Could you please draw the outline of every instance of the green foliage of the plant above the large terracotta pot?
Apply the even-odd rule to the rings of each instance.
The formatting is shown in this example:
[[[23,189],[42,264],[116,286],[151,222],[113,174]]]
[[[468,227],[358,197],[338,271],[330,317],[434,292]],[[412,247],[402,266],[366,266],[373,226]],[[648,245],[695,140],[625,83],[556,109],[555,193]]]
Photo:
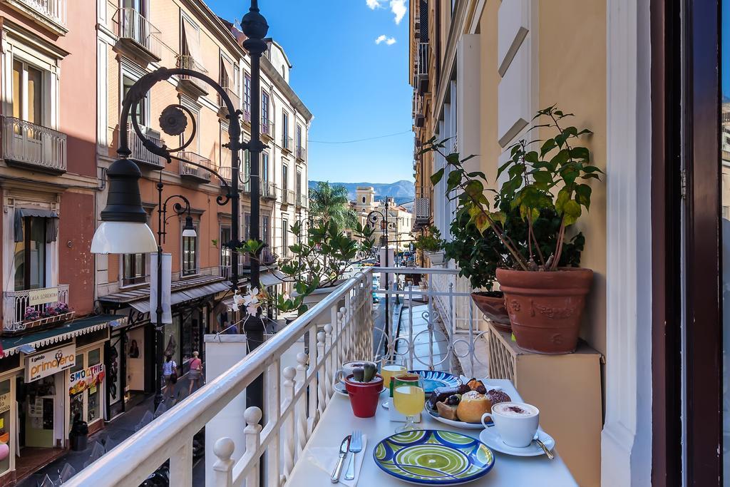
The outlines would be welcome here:
[[[530,130],[543,129],[554,135],[530,142],[522,139],[508,148],[510,160],[499,167],[497,177],[506,172],[509,178],[499,191],[486,186],[483,172],[466,171],[464,163],[474,156],[445,154],[445,140],[433,138],[424,146],[423,152],[434,150],[447,163],[447,168],[431,175],[431,183],[439,183],[445,169],[449,170],[446,193],[456,193],[450,196],[457,202],[456,223],[473,225],[482,236],[491,230],[499,245],[493,245],[495,242],[490,242],[489,237],[485,243],[495,252],[490,258],[499,256],[499,266],[552,271],[560,265],[575,265],[580,258],[576,258],[575,251],[580,255],[583,235],[575,235],[566,244],[566,229],[580,218],[583,208],[588,211],[591,186],[586,182],[600,180],[602,171],[591,165],[588,149],[578,145],[581,137],[592,132],[575,126],[564,128],[564,119],[572,116],[555,105],[537,112],[533,122],[538,118],[548,121],[534,123]],[[539,151],[530,150],[533,145],[539,145]],[[493,193],[494,203],[485,193]],[[451,251],[461,255],[464,249]],[[569,253],[566,258],[564,252]],[[489,276],[484,279],[481,282],[488,287]]]

